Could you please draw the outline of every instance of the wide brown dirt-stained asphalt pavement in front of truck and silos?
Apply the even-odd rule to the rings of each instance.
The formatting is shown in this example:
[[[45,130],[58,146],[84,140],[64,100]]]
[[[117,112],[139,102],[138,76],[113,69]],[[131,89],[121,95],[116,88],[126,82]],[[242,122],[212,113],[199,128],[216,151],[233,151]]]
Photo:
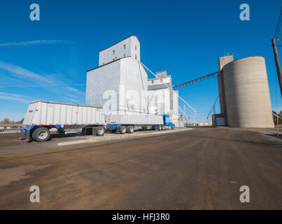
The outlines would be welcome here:
[[[15,137],[0,137],[0,209],[282,209],[282,141],[258,132],[197,128],[75,146]],[[9,153],[17,147],[33,150]],[[29,202],[31,186],[40,203]],[[250,203],[239,201],[241,186]]]

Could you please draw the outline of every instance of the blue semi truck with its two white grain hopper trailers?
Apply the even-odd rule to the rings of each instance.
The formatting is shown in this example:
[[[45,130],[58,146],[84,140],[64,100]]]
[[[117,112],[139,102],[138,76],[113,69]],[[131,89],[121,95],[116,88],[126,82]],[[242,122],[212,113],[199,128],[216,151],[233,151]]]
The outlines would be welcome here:
[[[169,115],[137,113],[133,111],[109,111],[104,118],[103,108],[83,104],[68,104],[36,100],[29,103],[20,129],[20,139],[48,141],[50,129],[59,134],[77,133],[103,136],[105,132],[132,134],[136,129],[161,131],[174,129]]]

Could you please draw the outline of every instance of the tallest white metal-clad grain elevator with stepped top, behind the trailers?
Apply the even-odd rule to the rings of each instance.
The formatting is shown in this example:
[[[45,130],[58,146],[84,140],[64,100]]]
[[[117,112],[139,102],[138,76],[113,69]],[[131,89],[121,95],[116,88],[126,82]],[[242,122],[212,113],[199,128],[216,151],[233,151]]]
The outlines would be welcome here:
[[[99,66],[87,71],[86,104],[104,113],[148,113],[148,74],[140,64],[140,43],[129,36],[99,52]]]

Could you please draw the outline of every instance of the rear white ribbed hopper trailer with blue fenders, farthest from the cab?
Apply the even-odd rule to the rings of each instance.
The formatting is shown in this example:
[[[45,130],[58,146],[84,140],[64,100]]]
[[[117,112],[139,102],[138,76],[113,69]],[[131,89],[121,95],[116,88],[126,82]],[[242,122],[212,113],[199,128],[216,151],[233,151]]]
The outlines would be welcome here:
[[[52,128],[56,128],[58,133],[70,133],[83,127],[94,127],[98,135],[103,135],[104,125],[101,108],[36,100],[29,104],[20,139],[47,141]]]

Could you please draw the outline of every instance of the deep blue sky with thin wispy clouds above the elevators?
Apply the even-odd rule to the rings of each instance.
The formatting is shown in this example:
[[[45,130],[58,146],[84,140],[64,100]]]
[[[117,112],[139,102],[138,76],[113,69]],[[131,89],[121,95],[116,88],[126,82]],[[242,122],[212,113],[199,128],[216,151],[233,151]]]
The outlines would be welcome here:
[[[40,21],[29,20],[31,3],[39,4]],[[249,4],[251,21],[239,20],[241,3]],[[174,85],[218,71],[218,57],[226,54],[263,56],[272,107],[282,106],[271,46],[281,1],[0,4],[0,120],[21,120],[34,99],[84,104],[86,71],[98,66],[99,50],[129,35],[141,42],[141,62],[152,71],[166,69]],[[188,111],[191,121],[205,121],[218,96],[217,80],[179,94],[198,112]]]

